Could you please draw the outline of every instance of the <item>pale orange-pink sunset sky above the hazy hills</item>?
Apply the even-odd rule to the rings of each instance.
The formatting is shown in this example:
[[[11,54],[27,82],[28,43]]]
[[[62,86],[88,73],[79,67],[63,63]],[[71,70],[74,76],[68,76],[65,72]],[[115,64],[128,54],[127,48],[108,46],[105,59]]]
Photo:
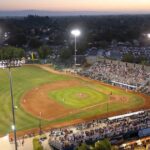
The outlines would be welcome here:
[[[0,10],[150,11],[150,0],[0,0]]]

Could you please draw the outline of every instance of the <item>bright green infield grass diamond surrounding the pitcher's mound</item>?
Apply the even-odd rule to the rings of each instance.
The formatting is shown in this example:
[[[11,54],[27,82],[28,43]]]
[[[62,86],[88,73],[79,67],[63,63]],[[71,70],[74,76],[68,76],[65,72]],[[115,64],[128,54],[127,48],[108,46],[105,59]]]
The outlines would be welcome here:
[[[49,96],[68,108],[82,108],[108,100],[106,94],[82,85],[51,91]]]

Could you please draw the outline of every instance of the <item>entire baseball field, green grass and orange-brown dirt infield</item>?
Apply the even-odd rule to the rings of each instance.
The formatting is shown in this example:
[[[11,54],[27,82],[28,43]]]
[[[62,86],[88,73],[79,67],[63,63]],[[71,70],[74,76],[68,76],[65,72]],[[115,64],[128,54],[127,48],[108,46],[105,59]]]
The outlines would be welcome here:
[[[58,127],[150,108],[148,96],[55,72],[50,66],[12,69],[17,131]],[[0,70],[0,135],[11,132],[8,70]]]

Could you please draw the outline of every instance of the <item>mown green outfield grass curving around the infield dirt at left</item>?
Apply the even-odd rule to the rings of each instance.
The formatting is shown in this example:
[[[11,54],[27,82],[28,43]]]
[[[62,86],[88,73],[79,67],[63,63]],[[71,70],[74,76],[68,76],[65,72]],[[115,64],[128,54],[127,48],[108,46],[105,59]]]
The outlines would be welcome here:
[[[44,83],[50,83],[57,80],[69,80],[66,76],[50,74],[47,71],[34,66],[24,66],[12,69],[12,77],[15,105],[18,106],[18,109],[16,110],[16,124],[18,130],[38,127],[39,123],[38,119],[30,116],[20,107],[20,99],[25,92]],[[11,131],[12,124],[7,69],[0,69],[0,106],[0,134],[6,134]]]

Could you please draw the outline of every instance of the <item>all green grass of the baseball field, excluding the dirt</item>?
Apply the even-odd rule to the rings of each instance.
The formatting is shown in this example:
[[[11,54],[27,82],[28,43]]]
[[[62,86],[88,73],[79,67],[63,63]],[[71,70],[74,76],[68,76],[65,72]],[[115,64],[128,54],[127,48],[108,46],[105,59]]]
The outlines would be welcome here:
[[[24,66],[21,68],[12,69],[13,76],[13,93],[16,110],[17,130],[39,127],[39,119],[25,112],[20,106],[21,97],[30,89],[44,83],[51,83],[60,80],[70,80],[73,77],[65,75],[56,75],[49,73],[35,66]],[[77,78],[75,78],[77,79]],[[80,80],[81,79],[77,79]],[[100,90],[100,91],[99,91]],[[114,103],[109,106],[109,111],[116,111],[123,108],[133,108],[143,104],[143,99],[135,94],[126,93],[122,90],[115,90],[100,84],[91,84],[82,81],[82,84],[72,88],[64,88],[49,92],[49,97],[60,102],[65,107],[80,109],[90,105],[94,105],[108,100],[107,92],[113,92],[116,95],[125,95],[129,98],[126,105]],[[80,95],[81,94],[81,95]],[[69,121],[76,118],[86,118],[93,115],[106,113],[107,105],[102,107],[91,108],[86,111],[78,112],[77,114],[68,115],[64,118],[53,121],[42,121],[42,125]],[[11,99],[9,92],[9,77],[7,69],[0,69],[0,135],[4,135],[11,131],[12,114],[11,114]]]

